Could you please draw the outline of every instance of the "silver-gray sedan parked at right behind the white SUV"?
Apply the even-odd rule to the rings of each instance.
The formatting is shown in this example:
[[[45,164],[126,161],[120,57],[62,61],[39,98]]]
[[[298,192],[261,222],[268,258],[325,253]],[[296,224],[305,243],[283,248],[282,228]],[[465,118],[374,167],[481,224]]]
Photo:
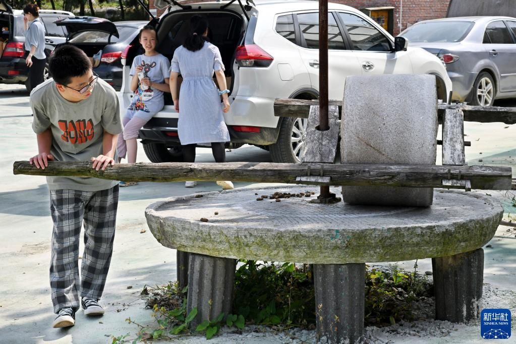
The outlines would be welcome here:
[[[516,18],[427,20],[400,36],[446,63],[453,100],[492,105],[495,99],[516,97]]]

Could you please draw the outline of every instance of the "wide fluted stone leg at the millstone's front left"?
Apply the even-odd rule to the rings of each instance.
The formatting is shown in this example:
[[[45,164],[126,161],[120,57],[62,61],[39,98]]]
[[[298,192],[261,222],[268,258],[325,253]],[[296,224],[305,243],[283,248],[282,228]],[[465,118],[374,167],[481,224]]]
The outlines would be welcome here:
[[[221,312],[231,313],[235,270],[236,259],[190,253],[186,310],[190,313],[197,307],[191,329],[203,320],[215,320]]]

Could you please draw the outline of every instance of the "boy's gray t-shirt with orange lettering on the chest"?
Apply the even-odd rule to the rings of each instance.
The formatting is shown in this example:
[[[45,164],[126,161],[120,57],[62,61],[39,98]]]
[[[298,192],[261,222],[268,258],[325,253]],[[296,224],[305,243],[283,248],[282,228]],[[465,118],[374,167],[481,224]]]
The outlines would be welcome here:
[[[80,102],[64,99],[53,79],[46,80],[30,93],[36,134],[52,132],[51,154],[56,161],[90,161],[103,153],[104,132],[122,133],[120,105],[115,90],[98,79],[91,95]],[[116,160],[116,157],[115,157]],[[91,177],[46,177],[50,190],[100,191],[117,181]]]

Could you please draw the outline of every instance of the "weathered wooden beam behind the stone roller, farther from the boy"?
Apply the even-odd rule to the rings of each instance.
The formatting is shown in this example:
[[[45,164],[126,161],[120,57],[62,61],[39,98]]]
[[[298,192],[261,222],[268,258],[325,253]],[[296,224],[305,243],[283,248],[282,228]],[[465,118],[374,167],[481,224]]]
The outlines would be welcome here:
[[[301,99],[276,99],[274,102],[274,114],[277,117],[308,118],[310,105],[318,105],[317,100]],[[329,105],[338,106],[338,112],[342,113],[341,101],[329,101]],[[445,110],[462,110],[466,122],[503,122],[505,124],[516,123],[516,108],[499,106],[471,106],[462,104],[438,104],[438,116],[442,117]]]

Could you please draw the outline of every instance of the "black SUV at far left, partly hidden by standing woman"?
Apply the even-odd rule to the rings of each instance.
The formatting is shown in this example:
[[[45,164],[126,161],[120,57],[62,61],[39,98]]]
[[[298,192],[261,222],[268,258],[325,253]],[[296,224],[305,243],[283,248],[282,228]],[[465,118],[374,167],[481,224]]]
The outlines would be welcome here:
[[[58,10],[40,10],[39,17],[45,26],[45,54],[50,56],[55,46],[66,41],[67,31],[63,27],[54,24],[63,18],[73,18],[71,12]],[[4,51],[0,57],[0,83],[25,84],[28,90],[28,67],[25,64],[25,27],[23,24],[23,11],[13,10],[6,2],[0,1],[0,29],[2,30]],[[45,79],[49,77],[45,68]]]

